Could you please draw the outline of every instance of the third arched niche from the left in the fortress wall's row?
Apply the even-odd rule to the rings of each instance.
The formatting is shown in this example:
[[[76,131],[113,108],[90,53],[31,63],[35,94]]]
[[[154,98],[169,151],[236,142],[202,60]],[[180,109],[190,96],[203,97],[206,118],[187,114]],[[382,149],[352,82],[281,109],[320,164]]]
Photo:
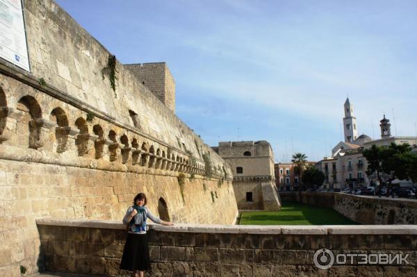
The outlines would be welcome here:
[[[68,134],[70,133],[67,114],[62,108],[57,107],[51,111],[49,120],[56,121],[56,124],[58,125],[58,127],[55,128],[54,149],[58,153],[63,153],[68,149]]]

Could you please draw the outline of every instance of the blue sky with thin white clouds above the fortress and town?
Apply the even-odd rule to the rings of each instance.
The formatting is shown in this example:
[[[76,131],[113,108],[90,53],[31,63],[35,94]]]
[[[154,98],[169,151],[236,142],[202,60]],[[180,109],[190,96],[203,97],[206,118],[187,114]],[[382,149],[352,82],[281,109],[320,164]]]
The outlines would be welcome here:
[[[310,160],[359,133],[416,135],[417,1],[57,0],[122,63],[167,62],[204,141],[268,140]],[[394,115],[394,117],[393,117]],[[394,120],[395,119],[395,120]]]

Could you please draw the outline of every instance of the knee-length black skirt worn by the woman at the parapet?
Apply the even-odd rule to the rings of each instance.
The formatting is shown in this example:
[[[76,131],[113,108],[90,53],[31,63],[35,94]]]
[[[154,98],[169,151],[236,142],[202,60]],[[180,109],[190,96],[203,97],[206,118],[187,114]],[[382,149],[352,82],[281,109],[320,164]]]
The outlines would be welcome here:
[[[147,234],[129,233],[127,235],[122,261],[120,262],[120,269],[130,271],[146,271],[151,269]]]

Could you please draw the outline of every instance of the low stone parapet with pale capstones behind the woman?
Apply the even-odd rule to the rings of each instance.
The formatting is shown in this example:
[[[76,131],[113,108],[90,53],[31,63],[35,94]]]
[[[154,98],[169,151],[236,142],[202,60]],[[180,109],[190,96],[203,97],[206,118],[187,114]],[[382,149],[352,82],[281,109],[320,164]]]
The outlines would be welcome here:
[[[127,276],[126,231],[115,221],[38,219],[46,271]],[[417,226],[149,226],[151,276],[415,276]],[[319,249],[350,254],[318,269]],[[408,263],[358,264],[357,255],[408,254]],[[353,258],[352,258],[353,259]],[[370,259],[370,258],[369,258]]]

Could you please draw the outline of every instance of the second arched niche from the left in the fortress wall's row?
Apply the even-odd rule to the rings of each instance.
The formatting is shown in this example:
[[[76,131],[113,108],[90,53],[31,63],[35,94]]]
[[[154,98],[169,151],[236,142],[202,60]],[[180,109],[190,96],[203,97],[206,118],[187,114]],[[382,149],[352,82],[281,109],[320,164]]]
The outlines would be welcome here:
[[[40,109],[38,101],[32,96],[23,96],[19,102],[17,102],[17,110],[23,112],[23,117],[17,121],[18,125],[24,125],[22,128],[17,126],[17,135],[19,139],[23,138],[24,140],[24,143],[22,144],[26,144],[33,149],[42,147],[44,144],[41,140],[42,110]],[[24,131],[24,133],[19,133],[19,131],[27,130],[26,126],[28,126],[29,129],[29,136],[27,136],[26,131]]]

